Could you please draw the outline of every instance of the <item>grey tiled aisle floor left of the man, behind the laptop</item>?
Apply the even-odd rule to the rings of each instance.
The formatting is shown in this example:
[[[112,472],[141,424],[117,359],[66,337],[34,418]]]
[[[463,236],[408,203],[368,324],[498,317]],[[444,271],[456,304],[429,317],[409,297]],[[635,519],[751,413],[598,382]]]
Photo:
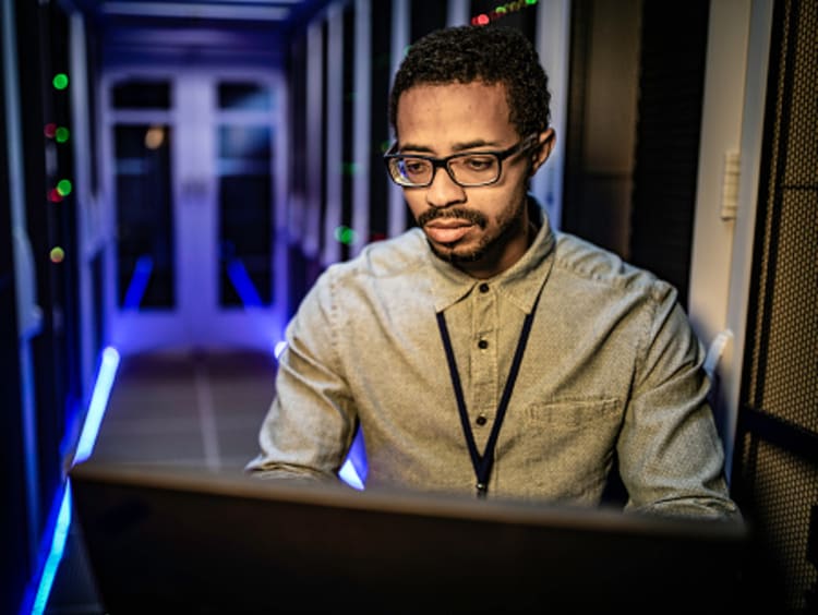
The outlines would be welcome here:
[[[241,472],[257,450],[275,367],[272,355],[253,352],[123,358],[94,460]],[[45,613],[105,613],[76,523]]]

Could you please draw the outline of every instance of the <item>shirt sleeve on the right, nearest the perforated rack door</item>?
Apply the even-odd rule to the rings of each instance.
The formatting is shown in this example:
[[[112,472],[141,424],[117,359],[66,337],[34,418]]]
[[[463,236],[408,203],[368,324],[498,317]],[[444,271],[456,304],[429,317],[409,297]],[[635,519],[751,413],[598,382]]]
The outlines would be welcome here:
[[[660,282],[651,303],[617,443],[626,510],[737,519],[707,398],[703,348],[675,290]]]

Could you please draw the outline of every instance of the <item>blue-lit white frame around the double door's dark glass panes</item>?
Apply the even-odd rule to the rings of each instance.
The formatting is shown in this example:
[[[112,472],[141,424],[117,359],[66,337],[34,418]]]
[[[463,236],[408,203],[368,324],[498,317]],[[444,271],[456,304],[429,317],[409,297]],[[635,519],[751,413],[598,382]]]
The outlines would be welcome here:
[[[171,106],[164,110],[116,110],[111,107],[110,87],[125,79],[166,79],[171,83]],[[209,82],[214,86],[220,81],[260,81],[270,87],[274,96],[274,109],[270,111],[270,129],[273,131],[273,157],[270,160],[270,178],[273,180],[273,193],[270,207],[275,226],[270,232],[272,254],[270,267],[273,275],[272,292],[274,301],[269,306],[245,306],[243,310],[230,311],[218,310],[218,285],[215,277],[218,276],[218,267],[214,264],[209,269],[210,279],[205,288],[197,288],[197,292],[187,292],[180,285],[188,288],[196,288],[196,281],[184,278],[182,272],[191,272],[196,266],[196,255],[191,255],[185,246],[190,245],[190,229],[184,225],[185,216],[182,207],[185,205],[184,182],[180,177],[179,169],[184,168],[183,140],[184,126],[182,119],[189,110],[184,108],[184,100],[176,100],[176,92],[179,84]],[[288,95],[285,89],[286,82],[279,71],[275,69],[260,68],[234,68],[224,64],[206,67],[183,67],[178,69],[146,67],[112,68],[104,71],[100,75],[100,116],[101,130],[99,134],[100,157],[99,177],[103,190],[103,203],[105,228],[108,240],[105,246],[105,310],[107,312],[108,338],[110,343],[123,354],[144,351],[173,350],[222,350],[237,348],[251,348],[273,351],[275,345],[282,338],[286,324],[286,293],[288,288],[287,266],[287,219],[286,219],[286,195],[287,182],[287,133],[285,130],[287,117]],[[213,91],[213,88],[212,88]],[[218,126],[219,111],[213,106],[207,110],[209,114],[208,134],[204,143],[210,144],[210,150],[205,153],[209,156],[205,179],[199,188],[203,188],[206,195],[207,218],[200,230],[209,233],[212,251],[217,254],[217,177],[215,154],[215,138]],[[117,206],[113,168],[113,140],[112,128],[118,123],[151,123],[152,121],[166,123],[173,126],[173,141],[171,142],[171,182],[172,182],[172,206],[175,219],[175,263],[182,279],[176,281],[179,293],[177,308],[170,312],[136,312],[123,311],[118,305],[117,282]],[[200,160],[202,162],[202,160]],[[210,260],[215,263],[215,258]],[[201,281],[201,280],[200,280]],[[202,292],[213,298],[213,309],[207,308],[202,312]],[[191,299],[193,298],[193,299]]]

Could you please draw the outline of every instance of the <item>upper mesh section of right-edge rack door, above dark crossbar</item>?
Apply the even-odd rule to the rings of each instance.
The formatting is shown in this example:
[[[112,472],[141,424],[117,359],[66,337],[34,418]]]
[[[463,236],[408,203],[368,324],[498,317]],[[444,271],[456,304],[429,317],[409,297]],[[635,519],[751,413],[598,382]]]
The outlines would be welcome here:
[[[779,72],[748,400],[811,431],[818,431],[817,7],[786,3],[772,67]]]

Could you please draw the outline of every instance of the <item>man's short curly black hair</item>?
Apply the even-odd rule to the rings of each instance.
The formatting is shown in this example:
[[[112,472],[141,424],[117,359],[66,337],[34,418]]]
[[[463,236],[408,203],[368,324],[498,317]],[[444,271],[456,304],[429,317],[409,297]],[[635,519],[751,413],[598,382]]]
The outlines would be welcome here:
[[[389,95],[389,122],[397,135],[400,95],[416,85],[501,83],[509,121],[520,136],[549,128],[549,77],[533,45],[507,26],[457,26],[435,31],[411,45]]]

